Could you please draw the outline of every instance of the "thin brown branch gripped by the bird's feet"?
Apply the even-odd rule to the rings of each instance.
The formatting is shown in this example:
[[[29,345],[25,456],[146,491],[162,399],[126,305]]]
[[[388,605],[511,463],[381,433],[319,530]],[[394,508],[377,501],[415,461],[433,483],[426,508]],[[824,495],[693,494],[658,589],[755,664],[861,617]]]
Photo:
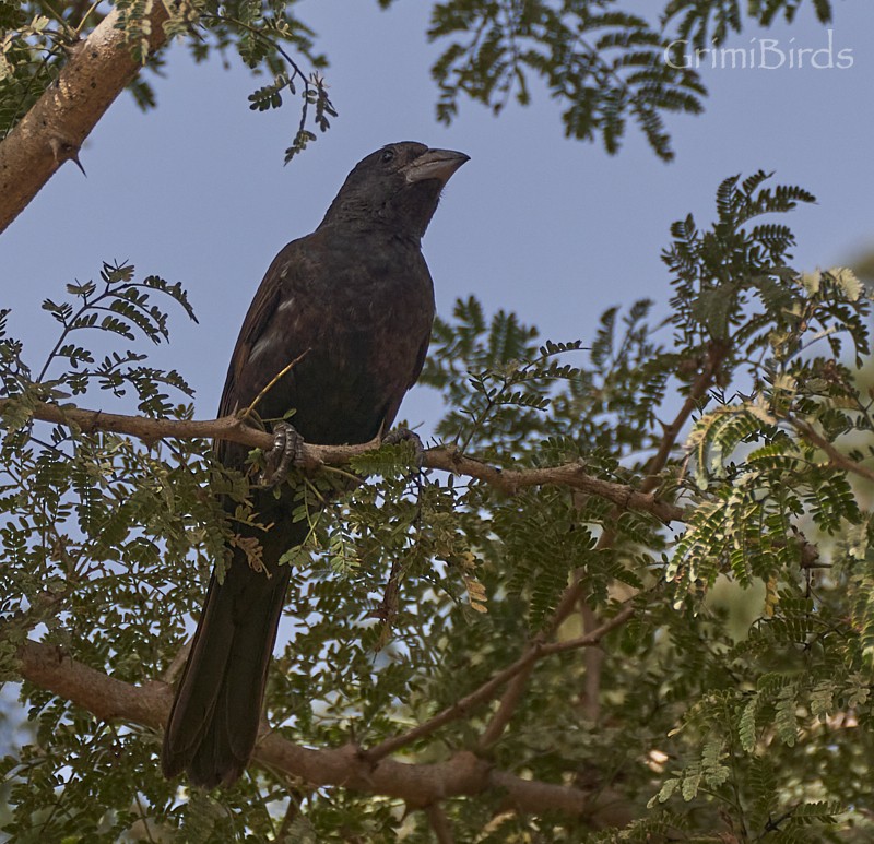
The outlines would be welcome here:
[[[3,413],[3,408],[10,401],[14,400],[0,399],[0,414]],[[84,431],[104,430],[126,433],[146,442],[164,438],[211,438],[239,442],[264,450],[273,445],[273,437],[270,433],[257,430],[235,416],[224,416],[221,419],[211,420],[150,419],[144,416],[123,416],[102,411],[86,411],[80,407],[61,407],[56,404],[42,403],[34,406],[33,416],[42,421],[75,426]],[[318,468],[323,464],[347,463],[350,457],[378,445],[377,440],[363,445],[306,444],[304,461],[306,467],[310,469]],[[651,492],[640,492],[634,487],[588,475],[580,463],[567,463],[548,468],[500,469],[464,456],[451,447],[438,447],[425,452],[423,465],[426,468],[466,475],[507,495],[513,495],[523,487],[566,486],[612,501],[616,504],[617,512],[635,510],[651,513],[663,522],[682,522],[684,520],[683,508],[662,501]]]

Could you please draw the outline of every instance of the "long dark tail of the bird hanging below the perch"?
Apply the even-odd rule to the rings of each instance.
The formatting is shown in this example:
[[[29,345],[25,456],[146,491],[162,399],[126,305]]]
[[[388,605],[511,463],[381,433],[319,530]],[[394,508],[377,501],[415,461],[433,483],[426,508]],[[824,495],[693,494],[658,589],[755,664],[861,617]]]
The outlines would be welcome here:
[[[229,785],[249,762],[291,574],[276,561],[304,540],[307,527],[283,525],[281,537],[275,530],[259,537],[270,576],[253,571],[235,548],[224,582],[214,573],[210,580],[164,733],[162,768],[168,778],[187,771],[194,785]]]

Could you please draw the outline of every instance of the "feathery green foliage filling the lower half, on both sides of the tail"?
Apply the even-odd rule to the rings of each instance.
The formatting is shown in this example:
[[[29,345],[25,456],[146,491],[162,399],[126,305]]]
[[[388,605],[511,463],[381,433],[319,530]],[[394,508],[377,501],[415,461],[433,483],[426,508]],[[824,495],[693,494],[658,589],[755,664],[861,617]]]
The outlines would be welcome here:
[[[719,187],[711,226],[675,224],[668,325],[650,324],[649,301],[609,310],[588,345],[542,342],[473,298],[438,320],[423,382],[446,402],[441,438],[505,478],[564,467],[624,489],[627,506],[548,474],[510,495],[423,472],[405,443],[307,478],[288,518],[310,532],[283,559],[291,632],[267,692],[279,735],[373,748],[532,641],[559,645],[530,664],[496,740],[482,738],[491,698],[411,740],[404,761],[451,764],[466,750],[622,813],[510,813],[486,789],[441,804],[463,834],[871,837],[870,300],[849,270],[793,270],[792,233],[760,218],[811,199],[758,173]],[[44,304],[58,340],[40,365],[0,311],[4,679],[31,638],[121,681],[160,680],[232,539],[217,496],[253,518],[247,479],[204,442],[37,421],[40,403],[70,395],[189,418],[172,397],[190,396],[181,376],[128,347],[167,340],[170,301],[193,316],[180,286],[104,265],[99,282]],[[652,495],[677,507],[674,523],[639,503]],[[577,646],[628,608],[598,649]],[[189,793],[161,777],[142,725],[99,722],[31,682],[21,698],[34,733],[0,761],[13,841],[430,839],[425,813],[394,797],[256,765],[232,788]]]

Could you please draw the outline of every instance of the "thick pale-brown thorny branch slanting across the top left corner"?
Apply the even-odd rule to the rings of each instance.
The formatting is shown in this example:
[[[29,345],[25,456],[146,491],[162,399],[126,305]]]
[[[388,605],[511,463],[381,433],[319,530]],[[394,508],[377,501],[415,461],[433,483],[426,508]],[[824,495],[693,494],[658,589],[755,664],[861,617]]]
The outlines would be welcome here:
[[[84,40],[21,122],[0,143],[0,231],[27,206],[64,161],[79,150],[97,121],[140,71],[114,9]],[[166,40],[167,10],[152,4],[151,50]]]

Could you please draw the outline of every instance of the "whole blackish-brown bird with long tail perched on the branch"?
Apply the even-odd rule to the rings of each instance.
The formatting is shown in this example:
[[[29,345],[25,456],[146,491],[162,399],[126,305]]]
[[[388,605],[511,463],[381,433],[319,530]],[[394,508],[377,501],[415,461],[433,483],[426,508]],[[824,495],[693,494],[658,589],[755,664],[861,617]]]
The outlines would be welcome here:
[[[422,238],[466,161],[404,141],[355,165],[318,228],[270,264],[231,357],[220,416],[255,405],[261,419],[288,418],[297,445],[298,437],[366,443],[389,430],[422,371],[434,321]],[[247,471],[246,447],[214,449],[222,464]],[[309,531],[292,519],[291,482],[256,484],[250,495],[260,527],[235,523],[237,504],[223,502],[236,542],[224,579],[212,572],[164,732],[164,775],[186,772],[203,788],[233,785],[251,758],[291,573],[280,558]],[[260,545],[260,567],[247,540]]]

